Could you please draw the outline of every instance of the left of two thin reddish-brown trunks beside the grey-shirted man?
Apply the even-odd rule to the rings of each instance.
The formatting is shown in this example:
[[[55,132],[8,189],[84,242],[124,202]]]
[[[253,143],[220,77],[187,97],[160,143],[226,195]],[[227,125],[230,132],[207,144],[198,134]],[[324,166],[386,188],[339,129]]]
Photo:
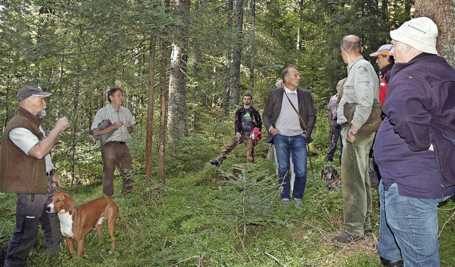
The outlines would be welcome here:
[[[151,170],[152,164],[152,147],[154,137],[154,99],[155,99],[155,51],[156,51],[156,39],[151,38],[149,46],[149,84],[148,84],[148,102],[147,102],[147,126],[146,126],[146,150],[145,150],[145,169],[146,178],[151,181]]]

